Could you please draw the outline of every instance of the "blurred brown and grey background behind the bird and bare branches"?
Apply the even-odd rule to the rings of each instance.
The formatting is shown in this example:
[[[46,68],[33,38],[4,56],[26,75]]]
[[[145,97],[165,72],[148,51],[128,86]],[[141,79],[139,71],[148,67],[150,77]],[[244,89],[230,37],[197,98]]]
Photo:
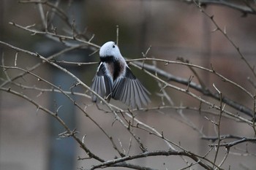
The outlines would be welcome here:
[[[55,2],[55,1],[51,1]],[[71,4],[71,6],[69,5]],[[244,88],[254,93],[254,88],[247,81],[247,77],[252,77],[249,68],[241,60],[236,49],[230,45],[227,39],[218,31],[206,15],[200,12],[195,4],[187,4],[178,0],[85,0],[85,1],[61,1],[61,9],[70,18],[75,20],[75,26],[80,31],[86,31],[86,35],[91,37],[94,34],[96,45],[102,45],[110,40],[116,41],[116,26],[119,28],[118,44],[122,55],[126,58],[142,58],[142,53],[146,53],[148,47],[151,50],[148,57],[162,58],[176,61],[177,58],[184,58],[191,63],[195,63],[206,68],[214,69],[225,77],[242,85]],[[47,11],[45,7],[45,12]],[[252,65],[256,64],[256,16],[247,15],[243,17],[241,12],[228,7],[209,5],[206,7],[209,15],[214,15],[220,28],[225,29],[227,34],[238,45],[241,53]],[[11,45],[31,50],[44,56],[50,56],[64,49],[64,45],[54,42],[45,36],[34,35],[16,28],[9,22],[18,23],[21,26],[36,24],[36,28],[43,28],[37,4],[23,4],[18,1],[1,0],[0,5],[0,39]],[[61,34],[67,34],[64,23],[59,18],[53,18],[53,25]],[[15,51],[6,47],[1,47],[1,58],[4,63],[12,66],[15,58]],[[90,50],[75,50],[72,53],[62,55],[59,60],[65,61],[99,61],[99,55],[91,54]],[[70,57],[72,56],[72,58]],[[18,53],[18,64],[20,66],[31,67],[38,63],[37,58]],[[70,66],[62,64],[72,73],[90,85],[96,72],[97,65]],[[189,78],[192,72],[186,66],[168,65],[157,63],[159,68],[170,72],[174,76]],[[161,99],[157,96],[159,88],[157,82],[141,73],[140,70],[132,68],[143,85],[152,93],[151,106],[161,104]],[[10,76],[17,74],[10,71]],[[69,90],[74,85],[67,75],[62,74],[52,66],[43,66],[36,70],[41,77],[53,82],[61,88]],[[241,90],[225,84],[211,74],[197,70],[206,85],[214,90],[212,84],[215,83],[224,95],[238,101],[246,107],[252,108],[252,100]],[[4,77],[1,72],[1,77]],[[193,80],[194,81],[194,80]],[[195,80],[196,82],[197,80]],[[45,88],[42,82],[38,82],[33,77],[26,77],[26,80],[18,80],[24,85],[35,85]],[[8,87],[8,86],[7,86]],[[76,88],[79,92],[84,89]],[[37,96],[34,90],[24,90],[30,96]],[[168,90],[175,105],[198,107],[198,101],[192,100],[188,96],[176,91]],[[78,156],[86,157],[80,150],[78,144],[72,139],[60,139],[58,134],[64,129],[56,123],[56,120],[49,115],[31,106],[22,98],[12,96],[9,93],[0,92],[0,169],[1,170],[45,170],[45,169],[77,169],[79,167],[89,168],[94,161],[77,161]],[[35,97],[42,106],[48,108],[59,108],[59,115],[67,122],[69,128],[76,128],[80,138],[86,134],[86,144],[102,158],[114,158],[115,152],[108,139],[99,129],[91,123],[83,114],[78,112],[72,103],[65,101],[63,95],[55,93],[43,93],[42,96]],[[90,104],[88,98],[77,98],[84,107]],[[96,107],[88,107],[98,123],[107,129],[116,142],[124,142],[124,146],[129,144],[129,134],[118,123],[113,123],[113,115],[97,110]],[[198,117],[197,112],[184,112],[189,120],[198,128],[203,127],[205,134],[214,135],[214,128],[203,117]],[[192,150],[204,155],[208,150],[208,142],[200,139],[200,134],[193,131],[191,127],[177,121],[175,110],[165,110],[160,112],[141,112],[138,119],[157,128],[158,131],[165,131],[165,135],[173,142],[181,142],[187,150]],[[189,132],[189,133],[188,133]],[[154,136],[145,135],[143,131],[136,131],[140,134],[143,142],[150,150],[167,150],[164,142]],[[252,128],[242,123],[236,123],[223,119],[222,134],[236,134],[240,136],[252,136]],[[249,148],[256,152],[255,144],[243,144],[241,148]],[[235,150],[233,152],[238,152]],[[140,152],[133,149],[132,152]],[[224,154],[224,151],[222,151]],[[219,160],[220,161],[220,160]],[[141,165],[155,169],[181,169],[182,161],[175,157],[148,158],[134,161]],[[225,169],[256,169],[255,156],[242,157],[241,155],[230,154],[225,163]],[[200,169],[199,167],[197,167]],[[195,168],[195,169],[197,169]],[[114,168],[113,168],[114,169]]]

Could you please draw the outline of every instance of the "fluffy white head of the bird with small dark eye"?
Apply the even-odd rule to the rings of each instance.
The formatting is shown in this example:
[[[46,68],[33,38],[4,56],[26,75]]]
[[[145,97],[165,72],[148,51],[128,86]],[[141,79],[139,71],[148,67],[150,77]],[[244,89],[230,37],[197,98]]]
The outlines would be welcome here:
[[[121,53],[115,42],[106,42],[99,50],[100,57],[113,56],[114,58],[120,58]]]

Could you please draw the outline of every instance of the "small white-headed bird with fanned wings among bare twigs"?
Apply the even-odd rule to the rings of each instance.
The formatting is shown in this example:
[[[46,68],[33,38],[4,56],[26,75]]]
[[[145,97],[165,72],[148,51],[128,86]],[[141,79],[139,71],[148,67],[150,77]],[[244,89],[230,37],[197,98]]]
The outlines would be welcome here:
[[[121,101],[132,109],[147,106],[150,93],[132,74],[115,42],[105,42],[99,49],[99,66],[91,84],[99,96],[110,102],[110,98]],[[99,102],[92,93],[91,100]]]

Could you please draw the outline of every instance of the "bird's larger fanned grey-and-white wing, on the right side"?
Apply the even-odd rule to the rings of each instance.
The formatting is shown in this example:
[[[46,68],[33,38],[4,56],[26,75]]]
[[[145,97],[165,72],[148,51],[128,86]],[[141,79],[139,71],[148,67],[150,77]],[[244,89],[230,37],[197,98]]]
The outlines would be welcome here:
[[[125,75],[118,77],[114,82],[112,98],[122,101],[132,108],[140,108],[150,102],[148,94],[150,94],[148,90],[143,87],[127,67]]]

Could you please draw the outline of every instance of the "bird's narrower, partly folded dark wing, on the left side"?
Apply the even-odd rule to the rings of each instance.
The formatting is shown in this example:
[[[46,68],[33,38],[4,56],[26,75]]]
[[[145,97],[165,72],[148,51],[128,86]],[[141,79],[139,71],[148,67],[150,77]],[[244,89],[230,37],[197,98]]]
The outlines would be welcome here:
[[[108,74],[106,73],[106,68],[103,63],[100,63],[97,74],[92,80],[91,90],[94,90],[102,98],[105,98],[107,101],[110,101],[112,93],[112,81]],[[96,95],[92,93],[91,100],[94,102],[99,101]]]

